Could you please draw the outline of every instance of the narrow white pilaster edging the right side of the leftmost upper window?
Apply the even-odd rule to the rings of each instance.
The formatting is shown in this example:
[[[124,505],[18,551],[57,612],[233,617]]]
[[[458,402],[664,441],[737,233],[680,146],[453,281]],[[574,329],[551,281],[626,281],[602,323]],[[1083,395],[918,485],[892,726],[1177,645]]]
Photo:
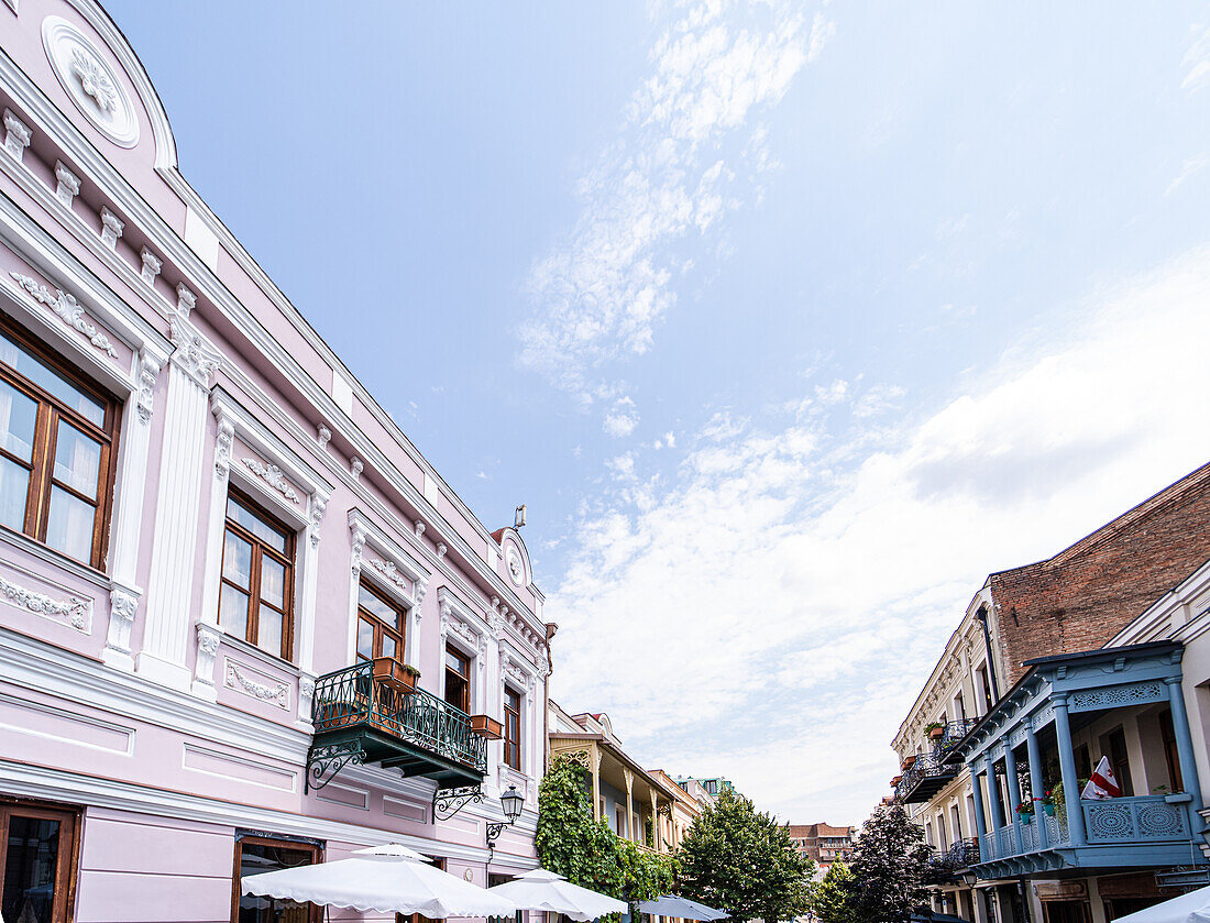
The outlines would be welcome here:
[[[127,404],[122,425],[122,468],[119,480],[117,525],[110,555],[109,634],[102,659],[122,670],[134,669],[131,656],[131,628],[138,611],[142,590],[137,585],[139,543],[143,533],[148,477],[148,450],[151,446],[151,413],[160,363],[146,351],[138,357],[138,386]]]

